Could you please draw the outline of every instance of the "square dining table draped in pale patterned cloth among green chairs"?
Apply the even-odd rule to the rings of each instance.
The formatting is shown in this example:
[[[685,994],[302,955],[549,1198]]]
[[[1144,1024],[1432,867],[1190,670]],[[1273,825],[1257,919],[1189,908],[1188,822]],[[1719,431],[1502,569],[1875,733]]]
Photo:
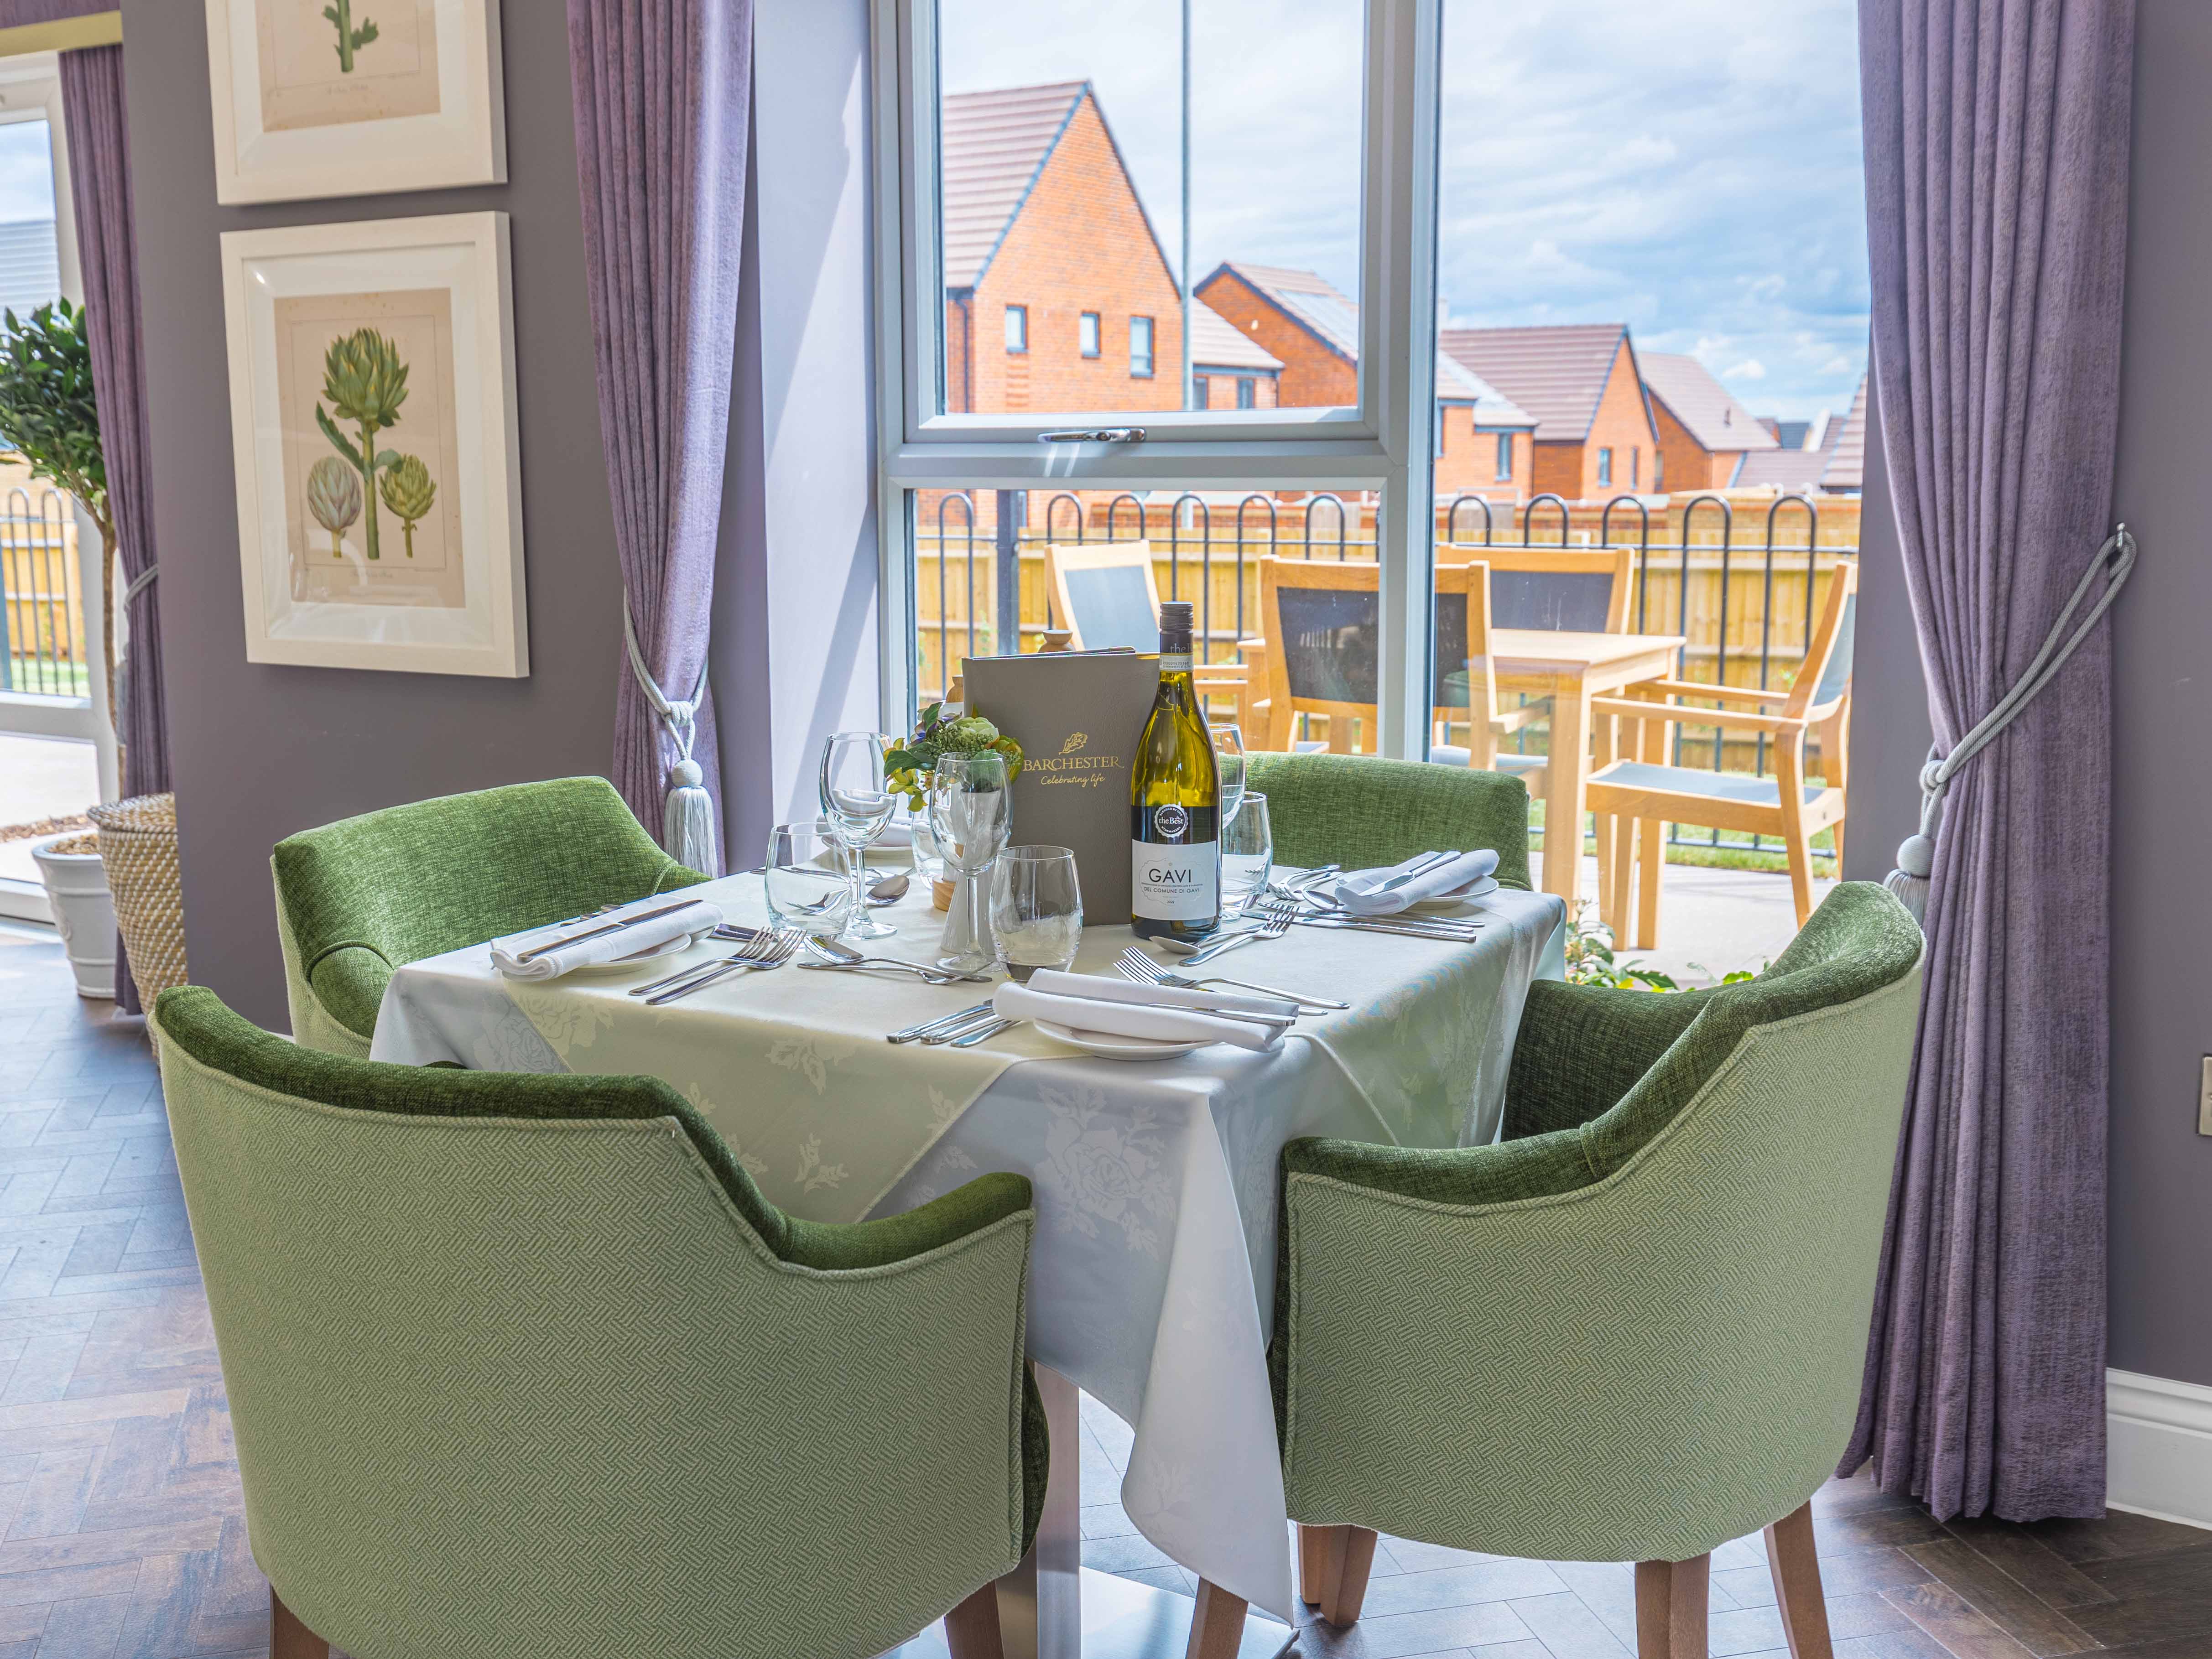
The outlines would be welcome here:
[[[686,896],[730,925],[770,922],[759,874]],[[872,914],[898,929],[874,953],[938,956],[945,916],[927,880]],[[1164,1650],[1172,1630],[1155,1646],[1128,1632],[1175,1619],[1128,1597],[1175,1604],[1190,1624],[1186,1597],[1082,1571],[1079,1506],[1115,1498],[1079,1491],[1082,1389],[1135,1431],[1117,1493],[1130,1524],[1272,1615],[1250,1621],[1243,1652],[1259,1655],[1298,1613],[1267,1383],[1281,1148],[1301,1135],[1495,1139],[1528,984],[1564,975],[1557,896],[1495,889],[1460,914],[1480,922],[1464,940],[1290,927],[1208,964],[1347,1004],[1303,1015],[1267,1051],[1210,1044],[1119,1062],[1026,1022],[967,1048],[891,1044],[894,1031],[987,1002],[991,984],[810,969],[814,951],[661,1006],[628,993],[734,949],[701,938],[668,960],[553,980],[502,978],[487,945],[409,962],[385,989],[372,1057],[661,1077],[763,1197],[810,1221],[896,1214],[989,1170],[1026,1175],[1037,1210],[1026,1340],[1053,1475],[1020,1575],[1029,1588],[1000,1595],[1033,1601],[1026,1630],[1015,1606],[1009,1652]],[[1075,971],[1113,973],[1137,942],[1126,925],[1086,927]],[[1155,958],[1175,967],[1157,947]],[[1108,1601],[1119,1641],[1102,1637]]]

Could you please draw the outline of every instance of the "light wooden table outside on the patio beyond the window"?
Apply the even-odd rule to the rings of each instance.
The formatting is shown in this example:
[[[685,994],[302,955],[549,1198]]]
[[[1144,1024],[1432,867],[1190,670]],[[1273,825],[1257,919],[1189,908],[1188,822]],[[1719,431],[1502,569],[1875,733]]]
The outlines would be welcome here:
[[[1491,628],[1498,690],[1551,699],[1551,768],[1544,776],[1544,891],[1575,902],[1582,883],[1582,803],[1590,783],[1590,699],[1674,672],[1679,633],[1573,633]],[[1553,832],[1573,825],[1568,858]]]

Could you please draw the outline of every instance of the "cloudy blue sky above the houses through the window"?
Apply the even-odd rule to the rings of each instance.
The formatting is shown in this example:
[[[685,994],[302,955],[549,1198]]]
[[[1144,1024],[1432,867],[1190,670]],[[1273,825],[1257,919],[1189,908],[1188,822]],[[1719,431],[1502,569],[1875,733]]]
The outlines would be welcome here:
[[[1190,0],[1192,270],[1358,292],[1360,0]],[[1449,323],[1628,323],[1756,414],[1867,361],[1856,0],[1444,0]],[[940,0],[947,91],[1091,80],[1179,254],[1181,0]]]

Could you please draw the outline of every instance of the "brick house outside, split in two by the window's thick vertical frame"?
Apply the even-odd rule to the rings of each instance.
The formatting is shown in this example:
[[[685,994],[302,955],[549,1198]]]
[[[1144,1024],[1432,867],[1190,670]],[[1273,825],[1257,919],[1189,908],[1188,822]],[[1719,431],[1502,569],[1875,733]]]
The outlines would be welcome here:
[[[1360,396],[1360,307],[1325,276],[1228,261],[1199,301],[1281,361],[1283,407],[1347,407]],[[1533,493],[1535,416],[1442,352],[1436,354],[1436,493],[1520,500]]]

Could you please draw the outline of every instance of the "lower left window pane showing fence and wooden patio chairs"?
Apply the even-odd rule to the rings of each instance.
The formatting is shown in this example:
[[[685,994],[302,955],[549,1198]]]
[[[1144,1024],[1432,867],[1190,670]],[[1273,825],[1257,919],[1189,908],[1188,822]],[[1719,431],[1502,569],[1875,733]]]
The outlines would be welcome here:
[[[1062,644],[1055,635],[1064,633],[1077,650],[1157,650],[1152,602],[1190,599],[1214,719],[1245,710],[1252,748],[1305,739],[1376,750],[1371,714],[1338,717],[1343,730],[1332,737],[1329,714],[1314,708],[1376,699],[1371,495],[927,489],[907,500],[916,706],[945,695],[962,657],[1013,650],[1015,641],[1040,650],[1046,639]],[[1057,560],[1084,566],[1066,575],[1075,615],[1055,597]],[[1298,582],[1314,566],[1334,577]],[[1279,615],[1267,608],[1267,571],[1279,575]],[[1332,586],[1321,591],[1318,582]],[[1259,639],[1285,639],[1292,653],[1292,699],[1301,708],[1287,710],[1276,730],[1252,710],[1267,695],[1261,653],[1239,648]]]

